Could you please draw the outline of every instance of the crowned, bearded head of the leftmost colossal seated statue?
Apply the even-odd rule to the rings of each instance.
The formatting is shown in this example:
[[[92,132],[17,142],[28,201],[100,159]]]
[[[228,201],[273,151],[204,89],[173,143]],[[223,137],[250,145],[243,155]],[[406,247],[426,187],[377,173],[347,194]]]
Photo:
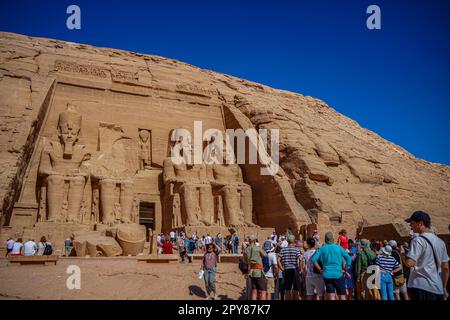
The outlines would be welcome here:
[[[64,145],[64,156],[72,156],[72,147],[78,141],[80,130],[81,115],[68,103],[67,110],[59,114],[58,120],[58,135]]]

